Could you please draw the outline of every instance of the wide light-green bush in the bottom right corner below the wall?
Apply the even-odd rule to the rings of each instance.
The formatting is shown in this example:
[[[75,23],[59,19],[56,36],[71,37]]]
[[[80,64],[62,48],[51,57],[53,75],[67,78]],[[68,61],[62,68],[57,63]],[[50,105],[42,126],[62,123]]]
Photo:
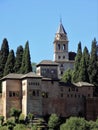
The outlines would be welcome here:
[[[94,122],[80,117],[70,117],[60,126],[60,130],[98,130],[98,120]]]

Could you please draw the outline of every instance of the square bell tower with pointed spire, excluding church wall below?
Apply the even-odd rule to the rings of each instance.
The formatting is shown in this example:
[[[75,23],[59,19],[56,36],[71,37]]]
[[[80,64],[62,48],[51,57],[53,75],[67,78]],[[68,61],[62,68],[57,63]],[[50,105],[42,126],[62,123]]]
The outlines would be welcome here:
[[[67,33],[60,21],[60,25],[54,39],[54,61],[63,62],[69,59]]]

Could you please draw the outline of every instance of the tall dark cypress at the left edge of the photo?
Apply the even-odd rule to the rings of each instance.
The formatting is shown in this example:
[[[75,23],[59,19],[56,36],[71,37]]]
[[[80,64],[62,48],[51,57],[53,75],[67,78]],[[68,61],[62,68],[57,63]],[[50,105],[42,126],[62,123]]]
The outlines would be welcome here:
[[[0,50],[0,78],[3,77],[4,67],[7,61],[8,54],[9,54],[9,45],[7,39],[4,38]]]

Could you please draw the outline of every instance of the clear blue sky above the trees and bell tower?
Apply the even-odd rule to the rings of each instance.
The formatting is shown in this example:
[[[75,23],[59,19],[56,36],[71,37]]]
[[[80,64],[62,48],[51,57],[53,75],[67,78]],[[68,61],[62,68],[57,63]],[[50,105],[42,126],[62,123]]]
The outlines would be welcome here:
[[[98,41],[98,0],[0,0],[0,45],[7,38],[10,49],[29,41],[31,61],[53,60],[53,41],[60,24],[67,32],[69,51],[91,50]]]

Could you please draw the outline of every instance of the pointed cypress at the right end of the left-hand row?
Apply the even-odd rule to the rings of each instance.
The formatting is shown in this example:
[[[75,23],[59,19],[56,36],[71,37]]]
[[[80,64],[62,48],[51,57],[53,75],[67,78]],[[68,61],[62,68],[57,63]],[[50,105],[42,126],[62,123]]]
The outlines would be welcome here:
[[[26,74],[31,71],[32,71],[32,65],[31,65],[31,58],[30,58],[30,51],[29,51],[29,43],[27,41],[23,52],[21,73]]]

